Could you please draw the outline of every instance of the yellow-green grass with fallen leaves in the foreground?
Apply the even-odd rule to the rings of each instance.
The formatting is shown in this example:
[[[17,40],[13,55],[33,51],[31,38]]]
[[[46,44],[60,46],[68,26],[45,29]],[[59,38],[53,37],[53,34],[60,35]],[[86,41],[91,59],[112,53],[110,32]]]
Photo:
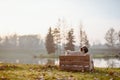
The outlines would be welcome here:
[[[94,72],[61,71],[55,65],[0,64],[0,80],[119,80],[120,68],[95,68]]]

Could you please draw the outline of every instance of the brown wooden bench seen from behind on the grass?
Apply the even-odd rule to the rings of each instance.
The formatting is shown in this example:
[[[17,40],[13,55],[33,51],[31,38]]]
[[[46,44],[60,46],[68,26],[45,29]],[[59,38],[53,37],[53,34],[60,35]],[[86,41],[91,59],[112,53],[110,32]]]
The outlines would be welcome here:
[[[60,55],[59,67],[68,71],[90,71],[89,55]]]

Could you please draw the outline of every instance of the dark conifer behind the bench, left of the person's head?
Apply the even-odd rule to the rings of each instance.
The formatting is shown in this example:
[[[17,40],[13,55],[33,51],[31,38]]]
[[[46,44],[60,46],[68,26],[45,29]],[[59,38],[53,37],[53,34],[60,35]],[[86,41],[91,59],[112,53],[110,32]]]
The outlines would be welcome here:
[[[66,43],[66,47],[65,47],[65,50],[71,50],[71,51],[74,51],[74,47],[75,45],[73,44],[75,41],[74,41],[74,36],[73,36],[73,29],[71,29],[69,32],[68,32],[68,36],[67,36],[67,43]]]

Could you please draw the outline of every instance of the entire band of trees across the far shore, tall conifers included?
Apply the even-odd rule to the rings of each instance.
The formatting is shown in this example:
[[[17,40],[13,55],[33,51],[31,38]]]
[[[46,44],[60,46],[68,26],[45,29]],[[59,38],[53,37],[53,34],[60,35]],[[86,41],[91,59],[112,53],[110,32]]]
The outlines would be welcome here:
[[[28,49],[28,50],[45,50],[48,53],[59,53],[62,50],[79,50],[82,46],[88,48],[102,48],[101,51],[107,49],[120,48],[120,30],[117,32],[114,28],[110,28],[106,31],[104,36],[104,45],[91,45],[88,39],[87,32],[83,29],[83,25],[79,26],[78,41],[74,35],[74,28],[66,29],[63,23],[64,21],[58,20],[55,28],[49,28],[48,33],[45,35],[44,40],[39,35],[8,35],[0,37],[0,50],[1,49]],[[63,28],[62,28],[63,27]],[[76,45],[77,43],[77,45]],[[92,49],[93,50],[93,49]],[[96,49],[95,49],[96,50]],[[95,51],[93,50],[93,51]],[[105,51],[107,51],[105,50]],[[98,50],[96,50],[98,51]]]

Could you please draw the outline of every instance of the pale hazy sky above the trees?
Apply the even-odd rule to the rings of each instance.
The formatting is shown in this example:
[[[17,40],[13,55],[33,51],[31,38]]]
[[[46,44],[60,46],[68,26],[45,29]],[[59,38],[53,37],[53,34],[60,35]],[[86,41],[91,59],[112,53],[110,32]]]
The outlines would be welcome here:
[[[0,0],[0,35],[46,35],[59,18],[75,34],[82,23],[90,43],[104,43],[109,28],[120,30],[120,0]]]

